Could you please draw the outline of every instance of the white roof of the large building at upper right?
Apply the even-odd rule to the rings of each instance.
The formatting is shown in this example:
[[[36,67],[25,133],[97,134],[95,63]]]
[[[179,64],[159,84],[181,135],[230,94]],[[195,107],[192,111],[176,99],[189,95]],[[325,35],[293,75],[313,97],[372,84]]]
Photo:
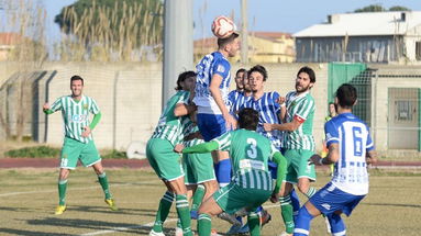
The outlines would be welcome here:
[[[295,37],[403,35],[421,24],[421,11],[363,12],[332,14],[328,22],[314,24]]]

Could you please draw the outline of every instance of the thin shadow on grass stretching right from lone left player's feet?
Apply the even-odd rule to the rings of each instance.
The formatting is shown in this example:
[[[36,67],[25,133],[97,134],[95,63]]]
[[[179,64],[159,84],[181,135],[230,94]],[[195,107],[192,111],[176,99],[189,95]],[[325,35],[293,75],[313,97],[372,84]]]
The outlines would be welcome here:
[[[146,209],[122,209],[119,207],[119,211],[111,211],[107,206],[89,206],[89,205],[73,205],[68,206],[67,211],[78,211],[78,212],[91,212],[91,213],[104,213],[104,214],[123,214],[123,215],[139,215],[139,216],[151,216],[155,217],[156,210],[146,210]]]

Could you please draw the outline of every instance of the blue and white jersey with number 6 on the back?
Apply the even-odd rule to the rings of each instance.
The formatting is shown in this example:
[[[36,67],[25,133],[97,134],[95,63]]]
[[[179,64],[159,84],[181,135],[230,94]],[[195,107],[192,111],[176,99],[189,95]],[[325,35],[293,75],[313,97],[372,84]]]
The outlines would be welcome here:
[[[324,125],[328,147],[339,144],[332,183],[344,192],[368,193],[366,151],[374,149],[367,125],[352,113],[342,113]]]

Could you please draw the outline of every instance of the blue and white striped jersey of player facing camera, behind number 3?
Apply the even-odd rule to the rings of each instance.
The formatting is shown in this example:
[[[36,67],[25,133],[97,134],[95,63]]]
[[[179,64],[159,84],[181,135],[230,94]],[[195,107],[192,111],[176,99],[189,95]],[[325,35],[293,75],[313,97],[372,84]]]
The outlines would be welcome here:
[[[263,127],[264,123],[269,123],[269,124],[280,123],[280,120],[279,120],[280,105],[277,102],[278,99],[279,99],[279,93],[277,92],[265,92],[262,95],[262,98],[259,98],[258,100],[255,100],[252,95],[246,102],[244,102],[241,109],[252,108],[258,111],[259,117],[258,117],[257,133],[269,138],[272,144],[276,148],[280,149],[282,132],[281,131],[266,132],[265,128]]]

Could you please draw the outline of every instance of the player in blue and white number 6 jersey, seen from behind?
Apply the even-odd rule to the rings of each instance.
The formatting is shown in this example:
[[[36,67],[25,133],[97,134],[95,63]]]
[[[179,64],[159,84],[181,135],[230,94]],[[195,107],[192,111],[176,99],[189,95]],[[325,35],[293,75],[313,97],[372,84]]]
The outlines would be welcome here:
[[[344,83],[336,90],[337,116],[324,125],[328,157],[311,157],[314,165],[334,164],[332,180],[320,189],[300,209],[295,236],[309,235],[310,221],[324,214],[333,235],[345,235],[341,214],[351,215],[355,206],[368,193],[367,164],[377,161],[367,125],[352,113],[357,102],[356,89]]]

